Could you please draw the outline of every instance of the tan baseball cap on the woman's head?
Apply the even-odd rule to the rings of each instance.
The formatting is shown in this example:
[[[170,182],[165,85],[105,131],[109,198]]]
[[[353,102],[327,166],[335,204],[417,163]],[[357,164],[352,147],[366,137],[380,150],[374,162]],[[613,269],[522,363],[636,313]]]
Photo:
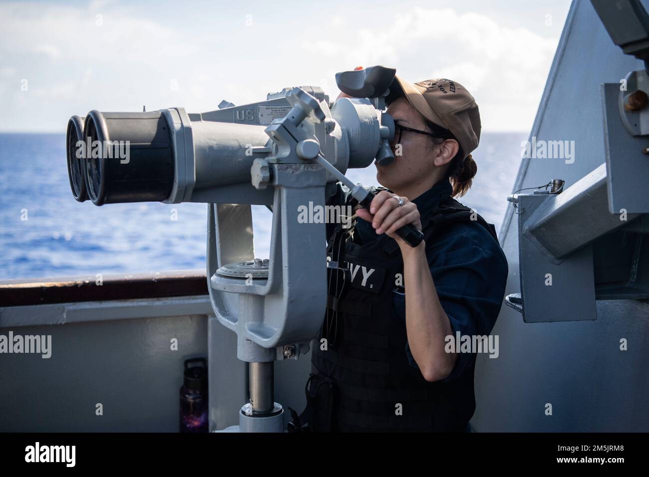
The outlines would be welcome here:
[[[405,96],[428,121],[450,130],[458,140],[464,158],[480,141],[480,111],[467,89],[456,81],[437,78],[416,83],[395,77],[387,103]]]

